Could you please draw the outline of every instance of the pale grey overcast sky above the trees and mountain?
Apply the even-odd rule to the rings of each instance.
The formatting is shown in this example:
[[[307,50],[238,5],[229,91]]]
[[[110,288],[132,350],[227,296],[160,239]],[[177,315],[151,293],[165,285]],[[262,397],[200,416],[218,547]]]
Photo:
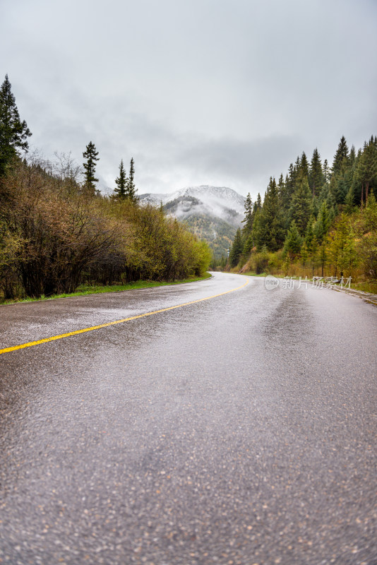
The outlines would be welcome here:
[[[377,134],[376,0],[0,0],[30,144],[102,189],[123,158],[144,192],[229,186],[253,197],[313,149]]]

